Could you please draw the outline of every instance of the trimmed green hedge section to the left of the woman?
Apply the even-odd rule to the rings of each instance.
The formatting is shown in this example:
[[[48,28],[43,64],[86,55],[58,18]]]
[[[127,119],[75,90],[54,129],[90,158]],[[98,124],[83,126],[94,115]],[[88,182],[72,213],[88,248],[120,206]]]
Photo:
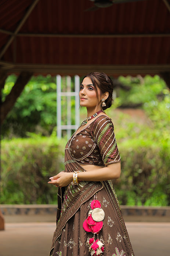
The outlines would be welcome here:
[[[64,169],[64,140],[56,136],[1,142],[1,203],[56,203],[50,176]]]

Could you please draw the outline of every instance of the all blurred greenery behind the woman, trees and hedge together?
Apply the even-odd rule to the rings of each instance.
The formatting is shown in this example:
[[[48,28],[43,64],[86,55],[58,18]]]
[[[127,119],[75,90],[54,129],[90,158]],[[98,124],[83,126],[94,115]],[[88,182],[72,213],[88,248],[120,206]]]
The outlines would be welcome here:
[[[3,101],[16,79],[8,76]],[[170,91],[159,76],[121,76],[113,83],[114,102],[106,113],[122,159],[121,177],[113,180],[120,204],[170,206]],[[71,102],[74,124],[73,98]],[[67,140],[66,133],[56,137],[56,115],[56,78],[32,77],[1,127],[1,204],[57,202],[57,189],[47,181],[64,169]],[[82,108],[80,119],[85,116]]]

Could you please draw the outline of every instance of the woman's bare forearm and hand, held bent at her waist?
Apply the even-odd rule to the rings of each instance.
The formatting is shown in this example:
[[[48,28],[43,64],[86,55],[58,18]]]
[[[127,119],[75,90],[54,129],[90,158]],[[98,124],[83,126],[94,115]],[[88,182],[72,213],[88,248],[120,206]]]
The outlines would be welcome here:
[[[78,180],[102,181],[118,179],[120,177],[120,173],[120,162],[116,162],[97,170],[78,172]],[[67,186],[70,182],[72,182],[72,180],[73,172],[60,172],[57,175],[51,177],[48,183],[59,187],[64,187]]]

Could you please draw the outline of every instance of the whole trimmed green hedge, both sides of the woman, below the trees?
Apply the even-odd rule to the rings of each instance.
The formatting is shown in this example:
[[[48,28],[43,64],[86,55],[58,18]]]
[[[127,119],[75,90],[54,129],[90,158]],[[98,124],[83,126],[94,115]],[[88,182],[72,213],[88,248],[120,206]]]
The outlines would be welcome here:
[[[55,136],[1,142],[1,203],[57,202],[57,189],[47,182],[64,168],[66,140]],[[121,204],[170,205],[169,140],[143,138],[119,142],[122,173],[114,186]]]

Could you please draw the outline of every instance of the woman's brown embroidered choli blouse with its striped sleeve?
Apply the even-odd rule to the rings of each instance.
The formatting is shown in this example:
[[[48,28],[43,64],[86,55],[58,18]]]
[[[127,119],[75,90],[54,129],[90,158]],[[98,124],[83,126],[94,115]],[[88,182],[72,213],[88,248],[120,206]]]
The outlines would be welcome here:
[[[83,130],[75,132],[67,146],[79,164],[104,166],[120,162],[113,123],[106,115],[98,116]]]

